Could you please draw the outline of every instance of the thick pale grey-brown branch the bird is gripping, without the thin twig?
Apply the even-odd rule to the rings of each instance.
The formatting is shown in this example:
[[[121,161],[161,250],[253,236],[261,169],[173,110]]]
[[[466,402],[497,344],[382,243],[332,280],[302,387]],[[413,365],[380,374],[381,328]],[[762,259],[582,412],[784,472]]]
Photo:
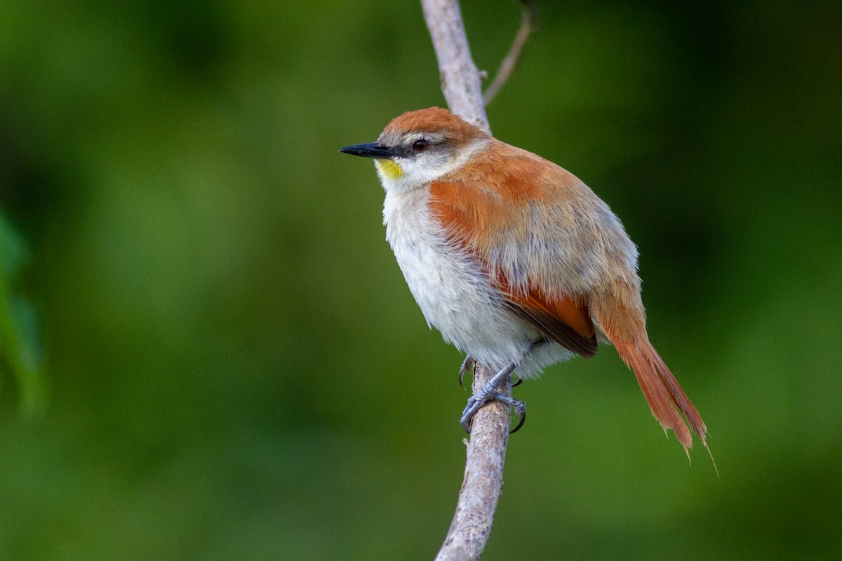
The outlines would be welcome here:
[[[424,19],[433,38],[439,61],[441,90],[450,110],[469,123],[491,133],[482,103],[479,72],[471,58],[457,0],[421,0]],[[481,388],[494,375],[492,368],[477,364],[473,390]],[[500,393],[510,395],[505,382]],[[503,464],[509,442],[509,407],[488,402],[474,415],[471,440],[467,443],[465,479],[437,561],[478,559],[488,542],[503,489]]]

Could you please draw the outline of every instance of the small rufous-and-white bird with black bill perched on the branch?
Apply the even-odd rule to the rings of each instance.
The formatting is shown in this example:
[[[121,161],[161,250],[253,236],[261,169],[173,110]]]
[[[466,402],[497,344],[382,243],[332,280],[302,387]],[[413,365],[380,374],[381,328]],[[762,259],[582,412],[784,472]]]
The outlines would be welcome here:
[[[437,107],[340,151],[374,159],[386,240],[428,325],[466,353],[460,379],[474,363],[495,371],[468,400],[466,431],[489,400],[514,406],[522,424],[525,405],[498,384],[594,357],[603,343],[688,457],[694,432],[710,453],[701,415],[649,341],[637,246],[578,177]]]

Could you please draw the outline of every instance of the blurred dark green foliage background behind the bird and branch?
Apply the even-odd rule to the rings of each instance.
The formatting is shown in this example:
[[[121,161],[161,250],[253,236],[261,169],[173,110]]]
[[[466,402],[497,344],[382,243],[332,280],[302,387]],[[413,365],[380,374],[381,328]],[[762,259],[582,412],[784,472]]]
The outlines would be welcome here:
[[[517,390],[484,558],[840,558],[842,10],[539,9],[493,131],[625,222],[721,477],[606,347]],[[461,356],[337,149],[443,103],[415,2],[0,3],[0,558],[434,556]]]

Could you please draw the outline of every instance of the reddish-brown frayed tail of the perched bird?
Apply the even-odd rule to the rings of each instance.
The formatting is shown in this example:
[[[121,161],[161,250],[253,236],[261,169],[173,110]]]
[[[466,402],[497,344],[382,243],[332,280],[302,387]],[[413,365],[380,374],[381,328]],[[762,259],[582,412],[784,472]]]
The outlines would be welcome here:
[[[707,429],[701,415],[695,410],[652,344],[649,341],[637,344],[615,342],[615,347],[623,362],[635,373],[637,384],[640,384],[649,408],[663,426],[663,430],[672,429],[686,450],[693,447],[693,437],[690,433],[692,429],[707,447]]]

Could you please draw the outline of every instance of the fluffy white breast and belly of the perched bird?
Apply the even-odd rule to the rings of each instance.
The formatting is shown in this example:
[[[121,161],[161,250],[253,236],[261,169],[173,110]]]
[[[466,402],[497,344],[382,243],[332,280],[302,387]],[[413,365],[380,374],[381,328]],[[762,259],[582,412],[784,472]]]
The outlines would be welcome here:
[[[387,189],[383,207],[386,240],[427,323],[480,363],[520,363],[521,376],[568,358],[555,343],[530,353],[541,334],[505,307],[475,257],[446,241],[428,203],[429,189]]]

